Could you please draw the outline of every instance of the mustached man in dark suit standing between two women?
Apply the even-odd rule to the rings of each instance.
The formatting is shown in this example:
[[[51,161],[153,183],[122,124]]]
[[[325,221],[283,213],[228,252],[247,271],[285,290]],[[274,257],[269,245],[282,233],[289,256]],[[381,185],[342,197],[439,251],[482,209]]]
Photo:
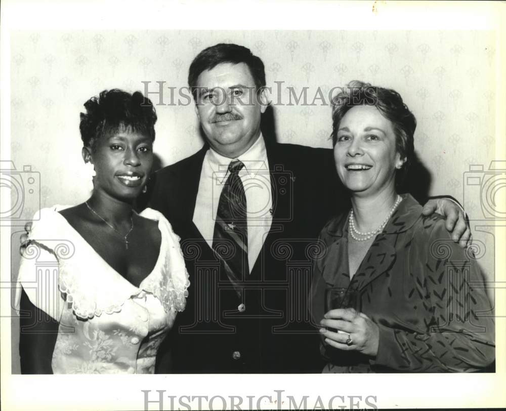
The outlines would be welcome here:
[[[206,143],[156,172],[148,190],[181,236],[191,284],[158,373],[321,372],[311,261],[319,230],[349,198],[332,150],[264,138],[265,84],[260,58],[237,45],[207,48],[190,66]]]

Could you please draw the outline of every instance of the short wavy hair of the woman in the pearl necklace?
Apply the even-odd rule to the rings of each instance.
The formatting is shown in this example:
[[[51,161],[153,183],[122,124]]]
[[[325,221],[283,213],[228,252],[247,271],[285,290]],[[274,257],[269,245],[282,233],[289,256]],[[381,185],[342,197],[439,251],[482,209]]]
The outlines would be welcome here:
[[[346,89],[332,98],[332,145],[338,138],[339,124],[352,107],[375,106],[383,116],[392,122],[395,133],[395,147],[401,158],[406,158],[403,174],[409,168],[414,155],[414,131],[416,118],[395,90],[371,86],[369,83],[350,81]]]

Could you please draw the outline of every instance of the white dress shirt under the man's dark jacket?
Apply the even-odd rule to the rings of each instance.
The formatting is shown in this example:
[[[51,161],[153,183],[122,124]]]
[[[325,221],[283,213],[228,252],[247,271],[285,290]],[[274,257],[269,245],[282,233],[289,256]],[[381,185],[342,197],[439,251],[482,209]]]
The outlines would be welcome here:
[[[248,264],[251,272],[272,223],[271,178],[262,135],[238,158],[224,157],[212,148],[207,150],[200,173],[193,223],[209,246],[213,246],[218,203],[229,176],[228,166],[234,160],[244,164],[239,177],[246,194]]]

